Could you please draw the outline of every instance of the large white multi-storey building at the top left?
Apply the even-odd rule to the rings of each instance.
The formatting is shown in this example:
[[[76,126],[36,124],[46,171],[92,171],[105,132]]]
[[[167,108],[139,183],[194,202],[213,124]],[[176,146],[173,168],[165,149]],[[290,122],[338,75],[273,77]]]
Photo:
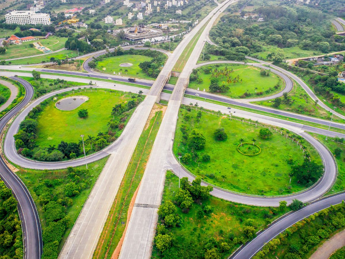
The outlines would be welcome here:
[[[12,11],[5,15],[6,23],[17,24],[45,24],[51,23],[48,13],[35,13],[34,11]]]

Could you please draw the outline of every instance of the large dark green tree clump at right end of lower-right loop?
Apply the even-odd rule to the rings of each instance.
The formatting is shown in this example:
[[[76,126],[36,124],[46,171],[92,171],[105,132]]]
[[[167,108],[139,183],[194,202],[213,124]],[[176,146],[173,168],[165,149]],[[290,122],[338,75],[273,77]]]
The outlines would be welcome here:
[[[323,166],[305,160],[302,165],[292,166],[292,175],[302,184],[315,183],[323,174]]]

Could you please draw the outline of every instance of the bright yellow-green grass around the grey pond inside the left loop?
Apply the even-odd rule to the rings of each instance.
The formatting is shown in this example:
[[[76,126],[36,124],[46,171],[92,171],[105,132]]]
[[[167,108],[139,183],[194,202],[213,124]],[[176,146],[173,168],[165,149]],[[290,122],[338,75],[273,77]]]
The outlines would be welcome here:
[[[120,92],[110,94],[101,89],[97,89],[97,92],[82,90],[81,93],[76,90],[74,95],[88,96],[89,100],[72,111],[59,110],[55,107],[56,102],[50,103],[42,111],[37,119],[37,145],[48,147],[58,145],[62,140],[78,143],[80,134],[97,136],[98,132],[105,132],[108,129],[107,123],[111,119],[112,107],[131,99],[129,95]],[[73,96],[73,93],[69,92],[65,97],[68,96]],[[59,97],[61,98],[64,97]],[[79,109],[87,109],[89,116],[79,118]]]

